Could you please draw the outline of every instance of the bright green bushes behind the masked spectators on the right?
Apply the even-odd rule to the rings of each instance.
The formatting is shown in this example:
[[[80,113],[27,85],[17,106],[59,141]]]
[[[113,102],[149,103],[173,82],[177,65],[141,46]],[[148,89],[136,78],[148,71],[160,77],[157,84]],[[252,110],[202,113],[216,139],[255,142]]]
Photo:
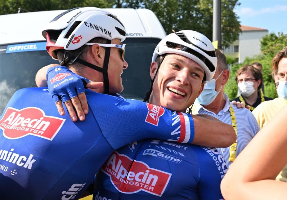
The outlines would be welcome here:
[[[245,61],[242,64],[232,65],[230,77],[224,89],[224,92],[228,95],[228,97],[233,99],[237,95],[238,87],[237,83],[235,82],[237,70],[244,65],[259,62],[263,66],[262,75],[265,96],[276,98],[277,92],[274,86],[274,80],[271,76],[271,61],[274,56],[284,48],[284,46],[287,46],[287,34],[278,33],[278,35],[276,35],[275,33],[270,33],[265,35],[261,40],[262,54],[252,58],[245,58]]]

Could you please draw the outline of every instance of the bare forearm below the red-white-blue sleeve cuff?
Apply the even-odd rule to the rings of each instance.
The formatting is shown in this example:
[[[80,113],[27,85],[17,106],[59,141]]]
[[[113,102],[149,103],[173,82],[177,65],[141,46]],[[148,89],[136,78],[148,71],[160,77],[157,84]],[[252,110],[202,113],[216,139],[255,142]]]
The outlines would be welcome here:
[[[194,139],[192,144],[209,147],[229,147],[236,141],[236,134],[229,124],[206,114],[192,115]]]

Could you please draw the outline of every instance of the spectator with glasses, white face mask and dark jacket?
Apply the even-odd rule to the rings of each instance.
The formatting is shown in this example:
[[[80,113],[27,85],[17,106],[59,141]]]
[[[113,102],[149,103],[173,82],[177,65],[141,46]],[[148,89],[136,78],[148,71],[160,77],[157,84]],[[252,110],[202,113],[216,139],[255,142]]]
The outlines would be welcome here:
[[[250,106],[251,111],[261,102],[272,100],[272,98],[265,97],[259,92],[262,85],[262,73],[254,66],[246,65],[241,67],[236,73],[235,80],[240,96],[233,100],[244,102],[247,106]]]

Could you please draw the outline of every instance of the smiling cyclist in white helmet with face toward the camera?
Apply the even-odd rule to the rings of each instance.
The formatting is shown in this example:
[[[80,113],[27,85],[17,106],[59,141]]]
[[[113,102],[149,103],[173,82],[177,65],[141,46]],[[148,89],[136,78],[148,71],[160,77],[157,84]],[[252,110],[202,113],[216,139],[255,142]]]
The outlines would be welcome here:
[[[167,35],[153,54],[149,102],[185,111],[213,77],[216,61],[212,43],[201,33]],[[177,120],[172,119],[175,127]],[[223,199],[220,182],[226,171],[216,148],[141,140],[107,159],[97,173],[93,199]]]

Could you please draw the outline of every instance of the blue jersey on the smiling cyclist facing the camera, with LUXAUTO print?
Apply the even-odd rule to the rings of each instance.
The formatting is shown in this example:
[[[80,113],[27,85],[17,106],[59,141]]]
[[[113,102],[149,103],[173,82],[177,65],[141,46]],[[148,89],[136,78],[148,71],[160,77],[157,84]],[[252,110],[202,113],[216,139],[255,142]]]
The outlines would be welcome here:
[[[97,173],[93,199],[219,200],[227,169],[216,148],[141,140],[107,159]]]

